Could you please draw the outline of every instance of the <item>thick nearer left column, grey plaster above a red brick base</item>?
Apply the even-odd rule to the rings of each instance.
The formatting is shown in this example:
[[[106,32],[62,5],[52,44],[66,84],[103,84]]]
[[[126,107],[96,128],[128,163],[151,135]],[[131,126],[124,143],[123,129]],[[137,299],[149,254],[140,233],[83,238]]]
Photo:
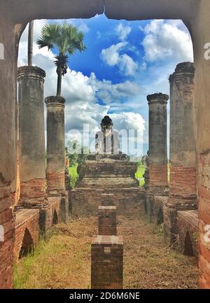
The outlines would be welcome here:
[[[20,202],[25,207],[47,204],[45,194],[45,127],[43,83],[37,66],[18,69],[20,127]]]

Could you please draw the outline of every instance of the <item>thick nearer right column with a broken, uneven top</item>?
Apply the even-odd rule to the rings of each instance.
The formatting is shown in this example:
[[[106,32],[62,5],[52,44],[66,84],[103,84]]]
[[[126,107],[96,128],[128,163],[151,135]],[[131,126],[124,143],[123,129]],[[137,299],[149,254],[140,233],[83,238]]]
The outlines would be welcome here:
[[[165,205],[165,235],[176,241],[177,211],[197,209],[195,107],[192,63],[176,66],[170,82],[170,190]]]

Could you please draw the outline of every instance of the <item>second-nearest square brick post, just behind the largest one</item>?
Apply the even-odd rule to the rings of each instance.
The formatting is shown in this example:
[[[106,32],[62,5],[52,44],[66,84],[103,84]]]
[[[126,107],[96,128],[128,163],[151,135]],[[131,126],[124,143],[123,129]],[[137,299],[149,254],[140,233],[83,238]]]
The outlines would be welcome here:
[[[116,206],[99,206],[99,235],[117,234]]]

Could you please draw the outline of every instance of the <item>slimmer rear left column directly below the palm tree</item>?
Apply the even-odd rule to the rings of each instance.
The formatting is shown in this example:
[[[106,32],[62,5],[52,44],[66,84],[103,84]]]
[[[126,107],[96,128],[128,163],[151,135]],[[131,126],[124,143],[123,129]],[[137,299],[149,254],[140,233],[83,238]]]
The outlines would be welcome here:
[[[65,191],[65,131],[63,97],[47,97],[47,181],[48,193]]]

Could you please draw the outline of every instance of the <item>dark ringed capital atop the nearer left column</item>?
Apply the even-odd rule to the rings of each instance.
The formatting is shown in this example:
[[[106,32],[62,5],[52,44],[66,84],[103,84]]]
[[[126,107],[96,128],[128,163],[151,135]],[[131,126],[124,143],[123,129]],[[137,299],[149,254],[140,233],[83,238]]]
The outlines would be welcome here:
[[[45,71],[38,66],[20,66],[18,68],[18,82],[23,79],[34,79],[44,83],[45,76]]]

